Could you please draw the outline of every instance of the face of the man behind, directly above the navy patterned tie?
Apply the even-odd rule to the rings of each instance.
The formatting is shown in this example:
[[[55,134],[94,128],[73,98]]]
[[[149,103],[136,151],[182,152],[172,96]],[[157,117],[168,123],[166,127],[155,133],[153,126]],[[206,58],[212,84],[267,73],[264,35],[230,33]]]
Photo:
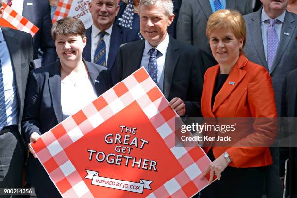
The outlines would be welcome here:
[[[101,31],[108,29],[114,23],[119,11],[116,0],[92,0],[89,8],[94,25]]]

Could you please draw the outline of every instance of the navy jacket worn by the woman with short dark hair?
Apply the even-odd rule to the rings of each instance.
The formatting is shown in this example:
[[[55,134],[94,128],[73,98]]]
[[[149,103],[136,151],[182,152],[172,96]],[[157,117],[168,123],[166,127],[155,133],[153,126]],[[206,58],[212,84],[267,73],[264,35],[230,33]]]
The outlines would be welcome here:
[[[90,62],[85,61],[85,64],[97,95],[103,94],[111,87],[108,70]],[[30,74],[22,120],[22,134],[27,143],[33,132],[41,135],[63,121],[60,66],[60,61],[57,61],[34,69]],[[43,182],[44,186],[52,186],[46,171],[32,154],[28,159],[26,181],[33,185]]]

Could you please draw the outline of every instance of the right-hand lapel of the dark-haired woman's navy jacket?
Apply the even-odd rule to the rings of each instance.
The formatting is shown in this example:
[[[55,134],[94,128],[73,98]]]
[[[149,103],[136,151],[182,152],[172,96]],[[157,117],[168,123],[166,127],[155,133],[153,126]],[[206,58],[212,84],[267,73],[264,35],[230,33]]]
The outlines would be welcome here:
[[[103,87],[105,82],[103,82],[103,79],[97,79],[99,75],[99,71],[95,68],[95,66],[92,63],[90,62],[84,62],[84,63],[88,68],[91,82],[94,85],[97,96],[100,96],[104,92]]]

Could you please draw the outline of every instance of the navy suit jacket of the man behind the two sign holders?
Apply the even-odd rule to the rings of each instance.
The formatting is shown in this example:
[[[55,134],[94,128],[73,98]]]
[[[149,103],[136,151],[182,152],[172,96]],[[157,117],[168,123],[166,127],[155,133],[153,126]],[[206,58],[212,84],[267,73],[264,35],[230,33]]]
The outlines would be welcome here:
[[[92,27],[86,30],[87,43],[83,49],[82,57],[86,61],[91,61],[91,46],[92,46]],[[122,26],[113,25],[112,34],[110,36],[110,45],[107,58],[107,69],[111,70],[112,81],[116,81],[116,70],[117,70],[117,61],[116,56],[119,50],[119,47],[124,43],[129,43],[132,41],[139,40],[138,33],[124,28]]]

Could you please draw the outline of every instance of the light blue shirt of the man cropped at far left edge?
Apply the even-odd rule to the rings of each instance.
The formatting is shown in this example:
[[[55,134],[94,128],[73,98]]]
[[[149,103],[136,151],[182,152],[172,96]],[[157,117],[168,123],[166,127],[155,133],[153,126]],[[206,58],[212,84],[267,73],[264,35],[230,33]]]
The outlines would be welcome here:
[[[1,28],[0,28],[0,58],[1,58],[1,65],[2,65],[2,72],[3,72],[3,84],[4,84],[4,95],[5,95],[6,116],[7,116],[6,126],[17,125],[19,107],[18,107],[18,99],[17,99],[16,80],[13,72],[13,66],[12,66],[10,54],[8,51],[8,47],[7,47],[6,41],[4,40]]]

